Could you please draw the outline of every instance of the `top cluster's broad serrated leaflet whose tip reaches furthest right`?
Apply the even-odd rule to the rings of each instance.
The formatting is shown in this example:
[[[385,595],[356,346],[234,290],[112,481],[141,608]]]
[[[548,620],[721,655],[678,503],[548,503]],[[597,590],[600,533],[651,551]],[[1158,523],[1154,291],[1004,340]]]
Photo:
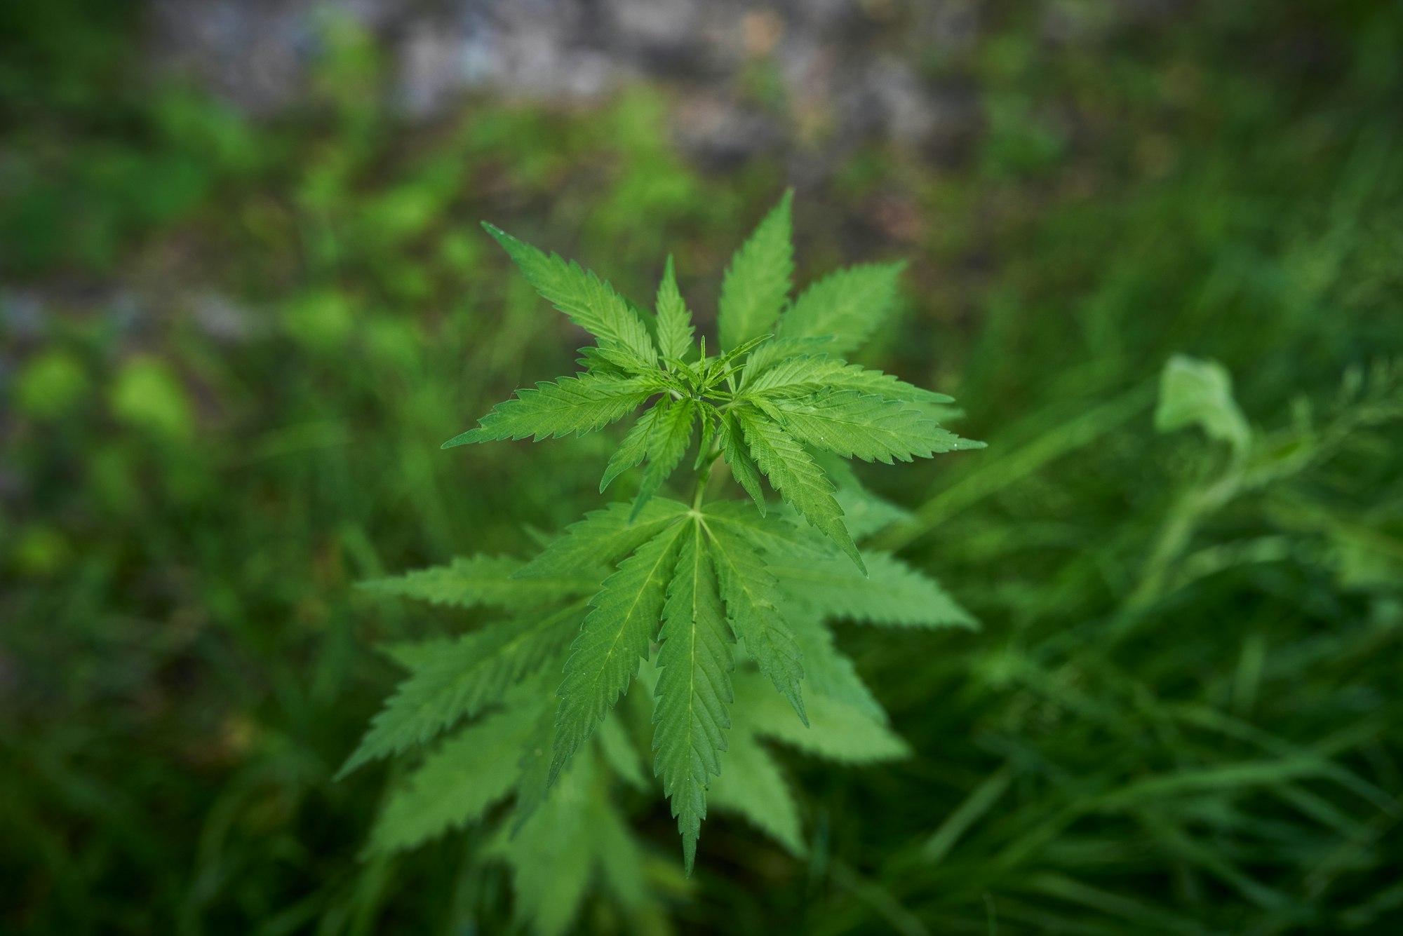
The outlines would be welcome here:
[[[982,447],[899,402],[868,397],[854,390],[824,391],[801,399],[773,399],[784,429],[807,446],[863,461],[892,464],[936,453]],[[961,444],[965,443],[965,444]]]

